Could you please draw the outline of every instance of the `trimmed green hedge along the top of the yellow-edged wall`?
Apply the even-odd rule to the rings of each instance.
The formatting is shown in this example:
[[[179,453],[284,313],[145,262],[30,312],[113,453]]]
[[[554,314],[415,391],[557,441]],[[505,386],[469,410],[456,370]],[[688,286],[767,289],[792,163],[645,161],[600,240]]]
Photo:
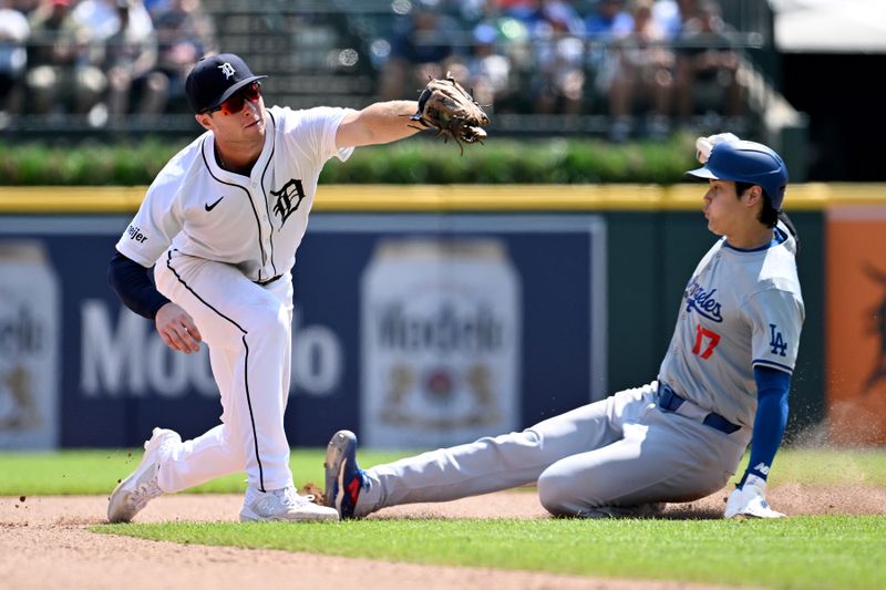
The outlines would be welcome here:
[[[186,145],[0,143],[0,185],[147,185]],[[444,144],[416,137],[361,147],[347,163],[332,159],[328,184],[596,184],[679,182],[694,164],[692,138],[614,145],[596,139],[490,139],[485,145]]]

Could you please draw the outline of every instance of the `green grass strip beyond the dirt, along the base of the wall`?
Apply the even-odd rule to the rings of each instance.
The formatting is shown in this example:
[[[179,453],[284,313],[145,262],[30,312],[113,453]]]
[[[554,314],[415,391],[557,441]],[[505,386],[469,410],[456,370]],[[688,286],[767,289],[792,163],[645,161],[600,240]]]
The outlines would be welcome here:
[[[361,451],[361,465],[371,466],[409,455],[409,452]],[[0,453],[0,496],[109,494],[142,458],[141,449],[63,451],[59,453]],[[746,460],[746,456],[745,456]],[[323,485],[323,452],[292,451],[292,474],[301,486]],[[740,467],[739,473],[743,470]],[[782,449],[775,457],[772,486],[799,484],[886,485],[886,449]],[[209,482],[192,491],[239,493],[244,476]]]

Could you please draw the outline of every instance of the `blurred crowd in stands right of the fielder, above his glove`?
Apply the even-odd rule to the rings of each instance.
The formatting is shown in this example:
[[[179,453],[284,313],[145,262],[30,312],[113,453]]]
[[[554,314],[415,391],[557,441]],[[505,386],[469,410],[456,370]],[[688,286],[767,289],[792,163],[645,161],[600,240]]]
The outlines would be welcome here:
[[[713,0],[418,0],[382,97],[451,71],[496,113],[610,115],[609,136],[744,114],[740,51]],[[464,31],[470,31],[465,39]]]

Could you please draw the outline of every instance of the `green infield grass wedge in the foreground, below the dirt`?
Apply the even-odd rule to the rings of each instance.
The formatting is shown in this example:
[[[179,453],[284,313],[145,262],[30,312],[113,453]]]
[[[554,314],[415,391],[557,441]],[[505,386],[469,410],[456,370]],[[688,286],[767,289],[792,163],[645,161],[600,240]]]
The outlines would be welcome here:
[[[777,589],[886,588],[886,519],[365,520],[103,525],[181,544]],[[297,532],[296,532],[297,531]]]

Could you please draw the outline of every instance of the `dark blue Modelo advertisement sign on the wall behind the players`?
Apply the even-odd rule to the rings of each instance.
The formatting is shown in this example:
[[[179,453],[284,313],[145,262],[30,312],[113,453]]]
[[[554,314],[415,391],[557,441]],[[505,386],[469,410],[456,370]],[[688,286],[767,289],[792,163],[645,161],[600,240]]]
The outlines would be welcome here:
[[[218,424],[208,351],[166,348],[119,302],[130,218],[0,218],[0,448],[138,446]],[[597,216],[315,214],[295,270],[292,446],[521,429],[606,391]]]

